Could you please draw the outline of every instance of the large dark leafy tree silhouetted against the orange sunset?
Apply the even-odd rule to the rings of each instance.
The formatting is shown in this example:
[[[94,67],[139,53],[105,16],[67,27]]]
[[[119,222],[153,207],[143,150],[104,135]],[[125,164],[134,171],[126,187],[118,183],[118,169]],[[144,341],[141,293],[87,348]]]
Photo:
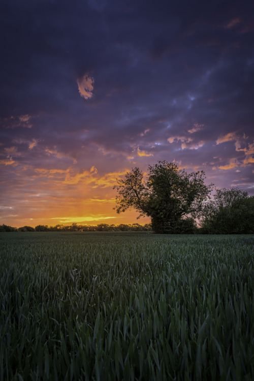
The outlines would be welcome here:
[[[156,233],[179,233],[186,218],[197,216],[211,191],[212,185],[204,180],[203,171],[187,173],[167,161],[149,165],[146,176],[135,167],[114,186],[118,191],[115,209],[120,213],[134,208],[140,216],[150,217]]]

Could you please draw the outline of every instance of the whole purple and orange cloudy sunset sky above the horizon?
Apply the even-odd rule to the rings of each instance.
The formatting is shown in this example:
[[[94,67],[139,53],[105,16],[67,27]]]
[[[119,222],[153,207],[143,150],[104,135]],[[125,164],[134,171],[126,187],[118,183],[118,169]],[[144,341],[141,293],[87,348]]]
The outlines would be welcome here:
[[[0,3],[0,224],[147,223],[116,178],[167,160],[254,194],[254,2]]]

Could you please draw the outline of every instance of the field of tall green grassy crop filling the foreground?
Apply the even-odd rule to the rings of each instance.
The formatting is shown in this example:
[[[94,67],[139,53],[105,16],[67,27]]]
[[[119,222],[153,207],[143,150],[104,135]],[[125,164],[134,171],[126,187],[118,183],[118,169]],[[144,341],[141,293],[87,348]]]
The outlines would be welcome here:
[[[0,234],[1,380],[254,379],[254,236]]]

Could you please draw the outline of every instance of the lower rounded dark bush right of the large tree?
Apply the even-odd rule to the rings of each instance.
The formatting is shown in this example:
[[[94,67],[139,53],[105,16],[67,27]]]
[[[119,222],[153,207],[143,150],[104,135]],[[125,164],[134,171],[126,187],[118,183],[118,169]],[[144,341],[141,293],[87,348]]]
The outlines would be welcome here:
[[[254,233],[254,197],[238,189],[216,189],[204,204],[201,227],[211,234]]]

